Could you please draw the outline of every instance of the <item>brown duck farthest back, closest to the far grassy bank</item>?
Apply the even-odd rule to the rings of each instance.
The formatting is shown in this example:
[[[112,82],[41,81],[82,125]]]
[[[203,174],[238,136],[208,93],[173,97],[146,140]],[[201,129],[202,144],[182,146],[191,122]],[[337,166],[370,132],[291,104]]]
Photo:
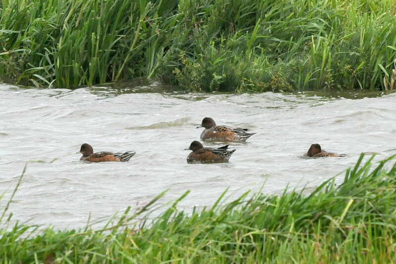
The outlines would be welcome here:
[[[228,141],[242,141],[245,142],[247,138],[255,133],[249,133],[250,129],[231,128],[227,126],[216,126],[216,122],[210,117],[202,119],[202,123],[198,128],[205,128],[201,135],[201,140],[221,139]]]

